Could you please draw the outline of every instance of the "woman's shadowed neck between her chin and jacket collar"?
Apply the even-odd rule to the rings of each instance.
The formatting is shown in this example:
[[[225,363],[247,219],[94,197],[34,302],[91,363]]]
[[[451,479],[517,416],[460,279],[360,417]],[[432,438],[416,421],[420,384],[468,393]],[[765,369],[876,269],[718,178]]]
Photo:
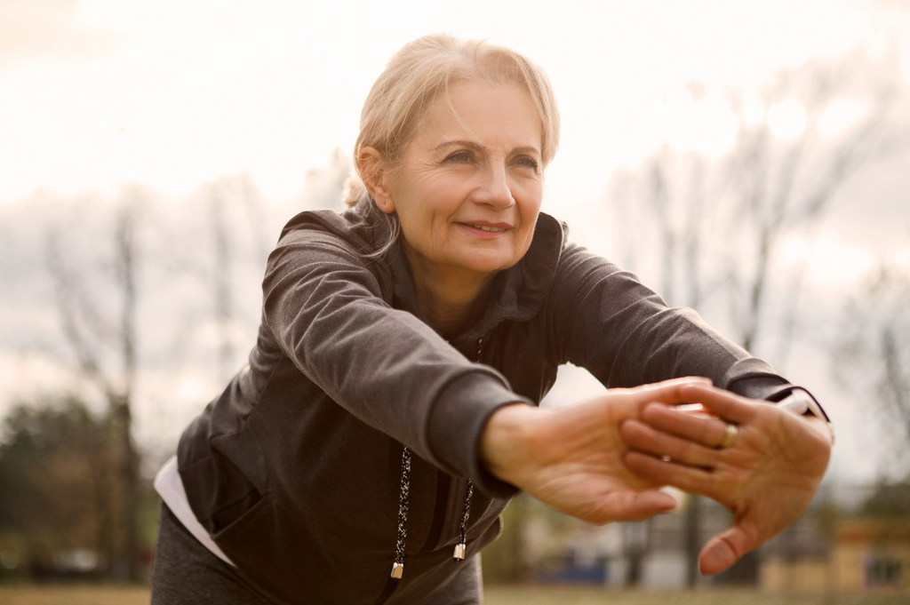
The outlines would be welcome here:
[[[492,275],[429,269],[411,263],[414,290],[423,315],[443,338],[459,336],[483,315]]]

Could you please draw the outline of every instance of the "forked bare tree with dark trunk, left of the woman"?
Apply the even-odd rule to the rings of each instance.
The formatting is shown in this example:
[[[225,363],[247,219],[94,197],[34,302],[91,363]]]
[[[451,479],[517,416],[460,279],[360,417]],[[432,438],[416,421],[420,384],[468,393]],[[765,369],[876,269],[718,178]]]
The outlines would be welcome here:
[[[112,576],[128,580],[139,578],[139,457],[132,438],[131,404],[136,384],[136,224],[146,196],[133,187],[117,200],[112,246],[100,272],[98,267],[93,271],[72,262],[73,250],[66,249],[59,227],[48,230],[45,244],[64,335],[81,373],[104,394],[108,405],[116,494],[104,500],[108,509],[103,515],[109,523],[102,542]],[[108,288],[113,297],[93,296],[93,290]]]

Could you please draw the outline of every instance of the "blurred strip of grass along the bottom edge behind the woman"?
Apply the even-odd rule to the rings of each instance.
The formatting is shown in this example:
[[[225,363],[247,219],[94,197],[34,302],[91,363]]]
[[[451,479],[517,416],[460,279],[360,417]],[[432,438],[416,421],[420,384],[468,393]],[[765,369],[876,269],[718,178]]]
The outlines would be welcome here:
[[[754,590],[600,590],[490,587],[486,605],[908,605],[905,595],[768,595]],[[148,589],[116,586],[0,586],[2,605],[147,605]]]

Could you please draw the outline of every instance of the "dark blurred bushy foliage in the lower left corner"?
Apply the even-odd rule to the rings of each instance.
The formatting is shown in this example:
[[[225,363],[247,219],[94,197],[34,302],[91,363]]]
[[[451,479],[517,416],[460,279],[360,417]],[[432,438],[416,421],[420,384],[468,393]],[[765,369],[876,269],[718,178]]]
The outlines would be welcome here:
[[[6,416],[0,578],[125,578],[131,557],[147,562],[157,499],[147,480],[124,498],[118,424],[72,396],[20,403]],[[124,518],[136,519],[135,537],[117,526]]]

